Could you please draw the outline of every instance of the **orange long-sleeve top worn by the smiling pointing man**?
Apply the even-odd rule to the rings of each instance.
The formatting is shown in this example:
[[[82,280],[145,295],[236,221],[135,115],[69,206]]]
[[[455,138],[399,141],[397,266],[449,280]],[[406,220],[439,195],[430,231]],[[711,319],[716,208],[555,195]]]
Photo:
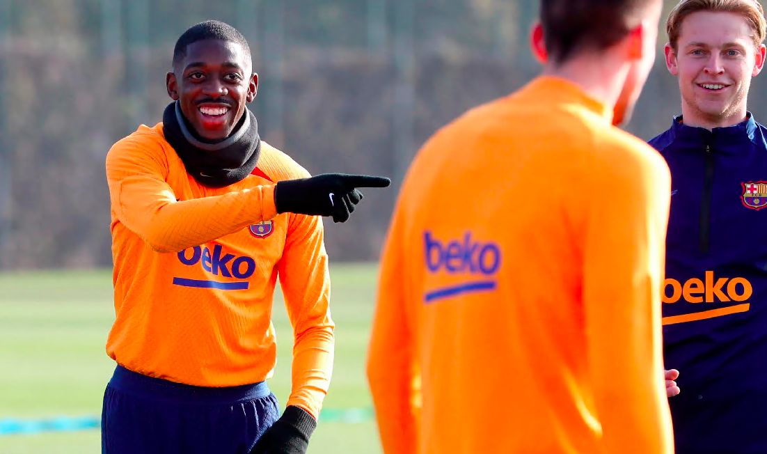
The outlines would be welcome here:
[[[275,366],[279,278],[295,342],[288,405],[316,418],[334,344],[322,221],[277,215],[275,182],[309,176],[295,161],[262,142],[257,169],[261,175],[231,186],[201,186],[162,123],[112,147],[116,320],[107,354],[130,370],[196,386],[266,380]]]

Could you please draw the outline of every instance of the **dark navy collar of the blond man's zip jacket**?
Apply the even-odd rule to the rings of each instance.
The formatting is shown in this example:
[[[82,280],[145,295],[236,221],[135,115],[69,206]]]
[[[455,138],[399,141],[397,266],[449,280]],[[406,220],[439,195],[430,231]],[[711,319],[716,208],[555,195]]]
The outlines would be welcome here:
[[[677,146],[710,146],[714,151],[739,150],[745,143],[753,142],[758,129],[754,116],[751,112],[746,113],[746,120],[730,126],[716,127],[707,130],[702,127],[687,126],[682,121],[682,116],[673,117],[669,130],[671,140]]]

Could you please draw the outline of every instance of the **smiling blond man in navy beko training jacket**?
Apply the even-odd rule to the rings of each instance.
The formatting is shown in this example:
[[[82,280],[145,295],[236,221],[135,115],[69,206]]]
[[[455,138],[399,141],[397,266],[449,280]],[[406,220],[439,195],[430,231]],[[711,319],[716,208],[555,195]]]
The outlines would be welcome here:
[[[677,452],[767,452],[767,130],[746,110],[765,61],[755,0],[683,0],[666,64],[682,115],[650,140],[672,177],[663,294]],[[676,372],[674,372],[676,374]]]

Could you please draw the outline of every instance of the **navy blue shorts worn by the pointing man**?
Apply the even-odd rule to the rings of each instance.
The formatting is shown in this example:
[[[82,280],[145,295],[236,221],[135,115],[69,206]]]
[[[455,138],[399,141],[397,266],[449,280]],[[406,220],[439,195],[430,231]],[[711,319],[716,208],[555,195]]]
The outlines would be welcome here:
[[[103,454],[247,454],[280,415],[266,382],[209,388],[122,366],[104,392]]]

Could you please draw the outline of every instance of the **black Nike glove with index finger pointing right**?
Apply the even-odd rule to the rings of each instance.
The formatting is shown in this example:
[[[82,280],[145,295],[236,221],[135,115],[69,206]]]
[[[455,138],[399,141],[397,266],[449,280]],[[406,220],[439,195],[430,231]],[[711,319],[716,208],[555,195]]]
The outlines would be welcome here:
[[[277,183],[277,212],[333,216],[334,222],[349,219],[354,206],[362,200],[356,188],[385,188],[391,180],[383,176],[323,173],[311,178],[286,179]]]

